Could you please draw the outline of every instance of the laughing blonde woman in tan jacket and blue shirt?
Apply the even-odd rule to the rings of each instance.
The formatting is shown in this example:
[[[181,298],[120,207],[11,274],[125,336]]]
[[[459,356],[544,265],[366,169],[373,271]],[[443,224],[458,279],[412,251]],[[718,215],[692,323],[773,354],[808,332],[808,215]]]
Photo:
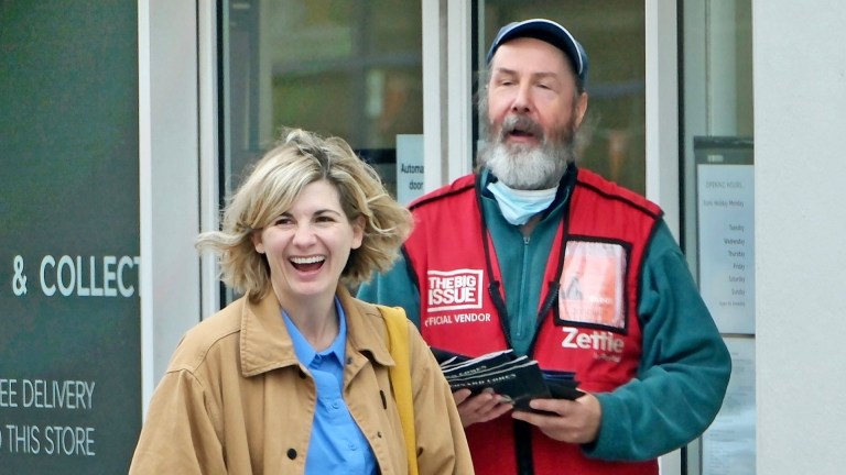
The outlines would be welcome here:
[[[130,473],[408,473],[386,323],[347,286],[389,268],[411,222],[346,142],[289,131],[231,198],[223,231],[197,240],[243,297],[180,343]],[[415,466],[473,473],[449,386],[402,323]]]

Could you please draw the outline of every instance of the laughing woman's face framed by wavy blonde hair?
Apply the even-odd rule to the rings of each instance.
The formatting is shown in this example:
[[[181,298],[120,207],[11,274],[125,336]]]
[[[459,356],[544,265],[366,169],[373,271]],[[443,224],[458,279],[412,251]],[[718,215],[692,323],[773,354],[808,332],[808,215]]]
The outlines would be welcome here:
[[[349,253],[361,245],[362,219],[347,219],[337,188],[326,180],[303,188],[290,210],[256,231],[256,251],[265,254],[281,301],[330,297]]]

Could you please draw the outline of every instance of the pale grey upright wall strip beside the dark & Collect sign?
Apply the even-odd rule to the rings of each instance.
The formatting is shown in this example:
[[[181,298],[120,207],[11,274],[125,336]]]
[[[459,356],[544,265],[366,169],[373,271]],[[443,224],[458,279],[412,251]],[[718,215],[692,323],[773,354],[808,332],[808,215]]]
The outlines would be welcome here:
[[[139,2],[142,397],[200,320],[198,8]],[[144,406],[145,407],[145,406]]]

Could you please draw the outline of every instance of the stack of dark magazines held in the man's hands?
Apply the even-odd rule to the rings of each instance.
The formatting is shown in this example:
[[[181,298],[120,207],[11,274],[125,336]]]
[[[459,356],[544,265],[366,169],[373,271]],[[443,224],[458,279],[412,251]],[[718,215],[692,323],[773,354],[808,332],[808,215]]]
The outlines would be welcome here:
[[[453,390],[470,389],[473,394],[490,388],[516,409],[531,410],[532,399],[577,399],[573,372],[544,371],[536,361],[517,356],[513,350],[468,357],[433,349],[441,371]]]

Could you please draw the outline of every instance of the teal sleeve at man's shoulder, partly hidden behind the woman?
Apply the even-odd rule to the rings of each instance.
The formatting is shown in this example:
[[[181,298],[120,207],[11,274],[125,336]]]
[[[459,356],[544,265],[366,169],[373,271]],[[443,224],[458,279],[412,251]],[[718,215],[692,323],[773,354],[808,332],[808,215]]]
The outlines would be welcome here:
[[[358,288],[357,297],[371,303],[402,307],[409,320],[420,328],[420,290],[411,279],[405,259],[400,256],[390,270],[377,274]]]

